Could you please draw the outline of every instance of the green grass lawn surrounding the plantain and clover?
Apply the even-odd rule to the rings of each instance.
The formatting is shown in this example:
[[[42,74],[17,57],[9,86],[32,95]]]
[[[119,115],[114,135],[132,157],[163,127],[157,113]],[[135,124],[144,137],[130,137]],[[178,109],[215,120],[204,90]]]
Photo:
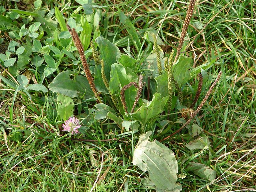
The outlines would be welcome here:
[[[33,1],[5,0],[0,4],[8,12],[8,9],[17,8],[30,10],[31,2]],[[161,48],[170,53],[177,47],[188,6],[184,1],[170,3],[133,0],[102,1],[98,5],[106,6],[102,9],[99,23],[101,36],[113,35],[108,37],[115,37],[115,41],[127,37],[127,41],[116,44],[122,52],[128,50],[138,63],[146,59],[150,49],[136,50],[134,46],[130,48],[129,43],[132,41],[124,25],[119,23],[118,10],[130,17],[136,30],[150,27],[159,32],[165,44]],[[65,10],[65,17],[69,18],[79,4],[75,1],[48,1],[40,8],[45,11],[45,18],[55,6],[58,6],[59,10]],[[218,71],[221,70],[223,75],[197,118],[199,126],[209,137],[211,146],[202,150],[186,148],[185,144],[190,141],[187,129],[171,140],[164,141],[175,153],[179,165],[178,174],[183,177],[179,178],[178,182],[183,191],[256,191],[255,10],[255,0],[197,2],[188,36],[185,38],[187,46],[181,54],[194,59],[193,67],[216,59],[214,65],[207,70],[209,79],[202,88],[199,101],[203,100]],[[83,14],[84,10],[79,12]],[[54,23],[55,14],[49,15],[50,19],[47,19]],[[12,25],[2,26],[1,53],[4,53],[9,42],[15,39],[12,33],[19,33],[21,22],[34,23],[35,20],[20,14],[20,18]],[[43,40],[46,41],[47,38],[51,36],[45,33]],[[19,40],[19,43],[26,43],[26,39]],[[29,57],[33,58],[33,54]],[[70,65],[69,61],[71,60],[67,58],[60,64],[61,71],[64,68],[77,68]],[[26,68],[15,71],[14,67],[6,68],[1,64],[1,74],[13,83],[19,74],[28,76],[30,81],[38,81],[41,71],[29,70],[30,68],[32,67],[28,63]],[[55,72],[54,75],[57,74]],[[45,78],[43,84],[48,87],[53,77]],[[187,95],[185,100],[194,98],[194,81],[197,80],[191,80],[183,87],[183,94]],[[85,119],[83,115],[80,119],[93,130],[85,132],[85,138],[99,140],[98,142],[73,141],[65,135],[58,136],[57,130],[63,121],[56,117],[53,102],[56,93],[30,92],[30,99],[26,92],[20,91],[17,86],[12,88],[3,80],[0,84],[2,191],[90,191],[99,174],[100,154],[103,152],[105,155],[100,181],[93,191],[150,191],[140,182],[140,178],[147,175],[147,172],[140,171],[132,164],[133,146],[136,145],[137,136],[126,133],[119,135],[119,140],[102,142],[100,140],[111,139],[120,134],[120,130],[109,120],[100,122]],[[79,102],[81,101],[76,101]],[[88,108],[93,107],[90,105],[89,101],[81,105],[85,113]],[[174,120],[178,117],[179,114],[172,115]],[[172,126],[160,136],[164,138],[177,129],[178,127]],[[216,180],[209,182],[187,172],[185,167],[192,160],[215,170]]]

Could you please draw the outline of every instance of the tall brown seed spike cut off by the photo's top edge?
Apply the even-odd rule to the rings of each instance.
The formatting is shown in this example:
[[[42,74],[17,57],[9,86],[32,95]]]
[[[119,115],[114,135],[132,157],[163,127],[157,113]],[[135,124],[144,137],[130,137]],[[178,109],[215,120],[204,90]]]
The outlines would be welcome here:
[[[188,11],[187,11],[187,15],[186,15],[186,19],[184,21],[182,30],[181,30],[181,35],[180,35],[180,42],[177,48],[177,54],[175,56],[174,62],[178,59],[179,55],[180,55],[180,50],[182,48],[183,42],[184,42],[184,38],[186,36],[187,30],[188,30],[188,25],[190,23],[190,20],[192,18],[194,9],[195,9],[195,3],[196,0],[190,0],[189,1],[189,6],[188,6]]]

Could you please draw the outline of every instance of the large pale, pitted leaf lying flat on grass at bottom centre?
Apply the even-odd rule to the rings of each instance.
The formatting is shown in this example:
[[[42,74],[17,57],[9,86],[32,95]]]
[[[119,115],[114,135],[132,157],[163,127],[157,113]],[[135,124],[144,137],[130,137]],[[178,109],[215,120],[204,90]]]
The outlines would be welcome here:
[[[172,190],[176,184],[178,164],[171,149],[154,140],[148,141],[151,131],[140,136],[134,150],[132,164],[138,165],[143,171],[148,171],[148,179],[161,190]]]

